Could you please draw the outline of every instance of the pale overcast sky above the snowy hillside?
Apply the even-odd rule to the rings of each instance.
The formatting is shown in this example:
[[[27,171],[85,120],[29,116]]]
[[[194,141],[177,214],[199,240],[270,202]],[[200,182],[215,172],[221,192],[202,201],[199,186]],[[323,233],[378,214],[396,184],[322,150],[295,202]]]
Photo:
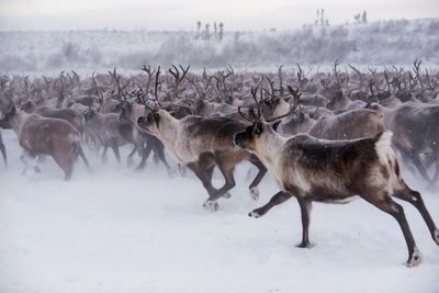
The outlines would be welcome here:
[[[0,0],[0,30],[191,30],[198,20],[226,30],[293,29],[312,23],[317,9],[333,24],[439,18],[438,0]]]

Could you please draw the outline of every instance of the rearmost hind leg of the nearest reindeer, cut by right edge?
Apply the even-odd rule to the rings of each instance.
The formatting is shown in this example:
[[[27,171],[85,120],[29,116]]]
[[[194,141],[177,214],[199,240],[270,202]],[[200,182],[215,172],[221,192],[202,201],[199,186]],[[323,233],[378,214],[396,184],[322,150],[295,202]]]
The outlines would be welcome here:
[[[432,221],[430,213],[427,211],[420,193],[409,189],[405,184],[405,189],[395,191],[393,196],[413,204],[419,211],[425,223],[427,224],[428,229],[430,230],[431,238],[437,245],[439,245],[439,229],[436,227],[436,224]]]

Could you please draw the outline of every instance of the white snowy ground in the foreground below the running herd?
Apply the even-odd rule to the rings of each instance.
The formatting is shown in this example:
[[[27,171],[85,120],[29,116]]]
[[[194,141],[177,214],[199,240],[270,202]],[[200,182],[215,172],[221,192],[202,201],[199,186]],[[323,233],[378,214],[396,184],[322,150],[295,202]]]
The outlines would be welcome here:
[[[2,293],[439,292],[439,247],[405,203],[424,256],[414,269],[403,264],[397,223],[361,200],[315,204],[315,246],[300,249],[295,200],[266,217],[247,216],[277,190],[267,177],[254,202],[249,166],[238,168],[232,199],[212,213],[202,209],[206,194],[192,174],[170,179],[153,161],[134,172],[112,154],[102,166],[88,151],[93,172],[78,161],[69,182],[52,159],[42,173],[22,176],[15,135],[2,133],[10,155],[8,170],[0,162]],[[439,194],[424,199],[439,223]]]

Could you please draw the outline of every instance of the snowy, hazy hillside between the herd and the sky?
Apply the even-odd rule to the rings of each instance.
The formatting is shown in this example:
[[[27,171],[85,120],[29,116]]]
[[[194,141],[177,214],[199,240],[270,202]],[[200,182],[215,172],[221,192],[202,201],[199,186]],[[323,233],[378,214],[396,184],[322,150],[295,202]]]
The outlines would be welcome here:
[[[147,21],[147,20],[146,20]],[[0,72],[59,75],[60,70],[139,70],[143,64],[193,69],[275,70],[300,63],[323,70],[336,59],[356,66],[439,66],[439,19],[361,25],[306,26],[279,32],[225,31],[222,41],[195,31],[0,32]]]

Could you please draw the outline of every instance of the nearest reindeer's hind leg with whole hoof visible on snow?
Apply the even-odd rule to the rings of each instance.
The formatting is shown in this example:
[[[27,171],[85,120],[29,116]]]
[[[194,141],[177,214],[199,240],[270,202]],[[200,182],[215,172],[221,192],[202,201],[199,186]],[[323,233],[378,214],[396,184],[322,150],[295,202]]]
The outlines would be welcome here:
[[[381,193],[378,195],[374,194],[364,194],[362,196],[369,203],[373,204],[381,211],[392,215],[397,223],[399,224],[401,229],[403,230],[405,241],[407,244],[408,250],[408,259],[406,262],[407,267],[416,267],[420,263],[421,255],[419,249],[416,247],[415,239],[413,238],[410,228],[408,226],[407,219],[405,217],[404,209],[399,204],[395,203],[389,194]]]

